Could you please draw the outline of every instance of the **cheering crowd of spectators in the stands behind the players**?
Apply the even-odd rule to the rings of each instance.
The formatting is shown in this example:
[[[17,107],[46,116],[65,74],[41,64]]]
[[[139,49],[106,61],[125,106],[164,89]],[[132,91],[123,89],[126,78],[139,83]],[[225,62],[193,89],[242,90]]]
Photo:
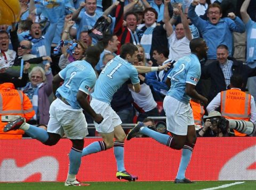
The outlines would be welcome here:
[[[28,122],[33,125],[47,126],[53,76],[69,63],[84,60],[87,47],[101,49],[100,61],[94,68],[99,75],[125,43],[138,47],[134,65],[150,67],[175,64],[190,54],[189,42],[197,37],[205,40],[209,51],[201,60],[202,79],[196,88],[210,103],[206,109],[207,105],[190,101],[197,135],[204,136],[206,130],[214,128],[207,111],[224,114],[221,102],[215,106],[211,101],[216,102],[214,98],[230,88],[250,94],[254,105],[250,103],[245,118],[237,118],[253,118],[255,122],[255,1],[20,0],[20,5],[20,21],[0,26],[0,83],[8,79],[28,96],[35,111]],[[111,102],[123,123],[165,115],[161,105],[169,89],[165,79],[171,69],[139,74],[140,93],[134,92],[131,81],[125,82]],[[230,84],[233,75],[242,78],[241,86]],[[248,102],[237,106],[244,110]],[[90,116],[85,115],[90,123]],[[220,135],[214,129],[205,136],[226,134]]]

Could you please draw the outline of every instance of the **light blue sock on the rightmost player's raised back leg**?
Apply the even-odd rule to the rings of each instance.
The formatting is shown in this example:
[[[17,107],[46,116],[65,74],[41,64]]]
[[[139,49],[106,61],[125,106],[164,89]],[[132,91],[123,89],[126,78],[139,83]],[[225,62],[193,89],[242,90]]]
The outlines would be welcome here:
[[[142,133],[143,135],[147,135],[149,137],[154,138],[159,143],[162,143],[162,144],[164,144],[166,146],[169,146],[168,145],[169,138],[170,138],[169,135],[158,133],[157,131],[151,130],[151,129],[147,128],[147,127],[141,127],[140,128],[140,133]]]

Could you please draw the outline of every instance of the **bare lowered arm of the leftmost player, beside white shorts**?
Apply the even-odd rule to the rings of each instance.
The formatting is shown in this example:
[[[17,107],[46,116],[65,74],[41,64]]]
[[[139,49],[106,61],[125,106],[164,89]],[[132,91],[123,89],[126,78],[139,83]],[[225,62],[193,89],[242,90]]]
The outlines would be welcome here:
[[[95,122],[101,123],[101,121],[103,121],[102,115],[95,113],[95,111],[90,106],[89,102],[87,101],[86,93],[82,92],[81,90],[78,90],[76,99],[79,105],[81,106],[81,108],[85,110],[87,113],[89,113]]]

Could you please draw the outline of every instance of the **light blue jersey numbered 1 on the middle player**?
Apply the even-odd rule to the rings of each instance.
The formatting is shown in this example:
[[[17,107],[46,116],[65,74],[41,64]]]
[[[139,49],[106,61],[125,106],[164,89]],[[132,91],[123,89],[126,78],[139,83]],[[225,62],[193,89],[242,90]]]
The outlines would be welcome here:
[[[101,71],[96,81],[92,97],[110,104],[113,95],[129,79],[131,79],[132,84],[138,84],[140,82],[137,69],[120,56],[116,56]]]

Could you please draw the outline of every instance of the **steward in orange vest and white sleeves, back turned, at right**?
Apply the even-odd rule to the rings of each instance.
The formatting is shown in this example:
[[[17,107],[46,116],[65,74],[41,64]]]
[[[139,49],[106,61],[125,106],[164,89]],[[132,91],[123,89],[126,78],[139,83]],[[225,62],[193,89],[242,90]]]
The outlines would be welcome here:
[[[244,83],[241,75],[234,74],[231,76],[230,89],[218,93],[218,95],[213,98],[206,108],[208,113],[220,107],[222,117],[228,120],[249,121],[249,123],[245,122],[241,124],[241,126],[245,128],[247,128],[248,125],[251,126],[250,122],[255,123],[256,107],[254,97],[243,92],[241,90],[243,86]],[[238,131],[235,128],[234,132],[231,130],[234,136],[248,136],[250,134],[250,132],[247,132],[247,134],[242,132],[246,131],[246,129],[240,129],[240,131]]]

